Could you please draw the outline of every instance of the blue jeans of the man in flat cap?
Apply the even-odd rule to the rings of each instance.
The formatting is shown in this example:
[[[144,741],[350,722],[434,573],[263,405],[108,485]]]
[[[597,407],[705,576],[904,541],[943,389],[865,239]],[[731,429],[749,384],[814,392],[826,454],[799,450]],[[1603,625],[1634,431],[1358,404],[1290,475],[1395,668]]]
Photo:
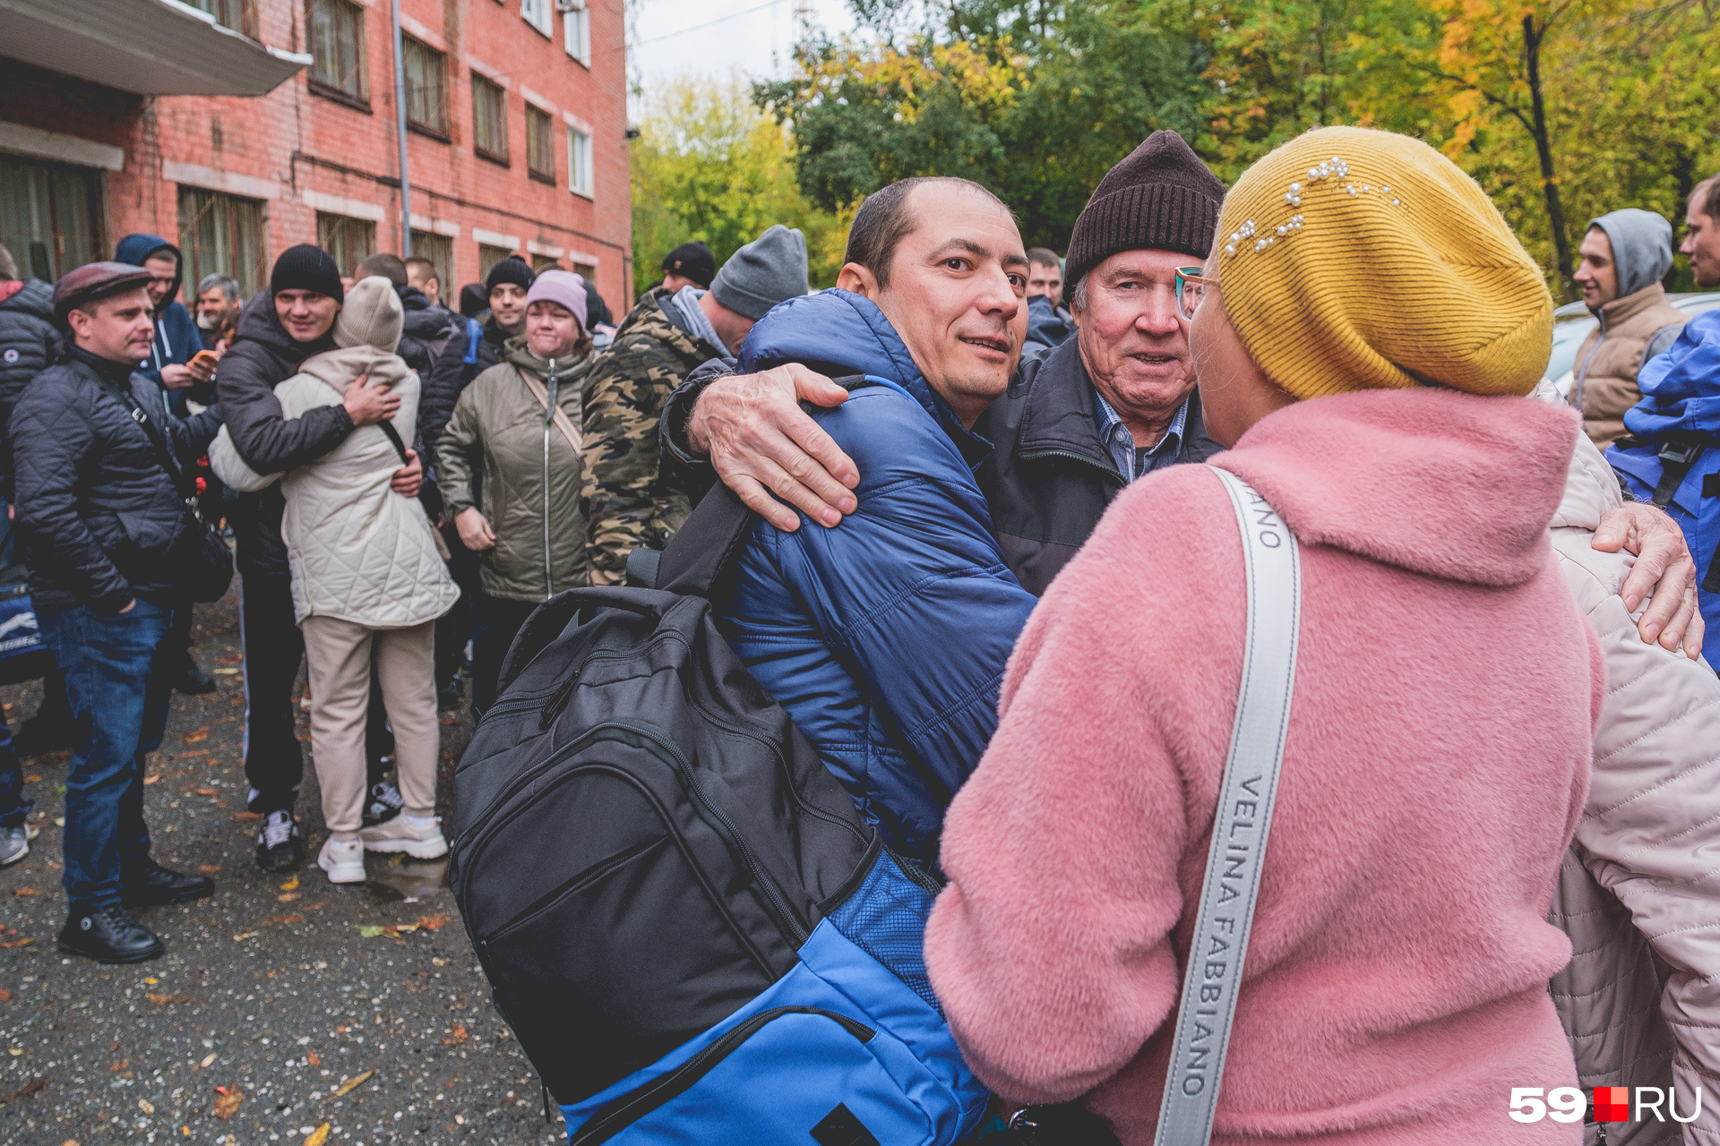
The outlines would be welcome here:
[[[155,651],[174,610],[139,600],[119,617],[88,608],[38,613],[41,637],[65,674],[79,742],[65,777],[65,885],[76,909],[120,902],[120,871],[150,854],[143,823],[143,758],[162,744],[172,680]]]

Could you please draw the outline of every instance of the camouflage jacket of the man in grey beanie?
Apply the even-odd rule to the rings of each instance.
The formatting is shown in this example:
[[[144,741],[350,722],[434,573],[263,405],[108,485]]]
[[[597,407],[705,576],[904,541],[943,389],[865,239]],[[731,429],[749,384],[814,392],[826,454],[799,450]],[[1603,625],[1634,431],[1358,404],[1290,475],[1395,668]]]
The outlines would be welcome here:
[[[681,330],[647,292],[585,375],[585,553],[592,584],[623,584],[628,553],[660,550],[686,521],[686,493],[664,479],[657,421],[686,376],[728,351]]]

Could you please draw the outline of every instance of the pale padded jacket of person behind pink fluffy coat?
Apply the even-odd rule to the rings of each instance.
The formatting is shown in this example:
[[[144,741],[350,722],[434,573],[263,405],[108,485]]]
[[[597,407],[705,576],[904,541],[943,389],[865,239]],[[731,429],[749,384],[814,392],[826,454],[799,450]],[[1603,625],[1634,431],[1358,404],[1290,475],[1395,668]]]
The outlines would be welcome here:
[[[1601,514],[1622,503],[1612,467],[1579,436],[1553,550],[1600,637],[1606,699],[1588,808],[1553,897],[1574,957],[1551,991],[1582,1086],[1634,1096],[1672,1084],[1680,1117],[1701,1088],[1701,1117],[1682,1141],[1720,1146],[1720,679],[1637,636],[1619,596],[1631,555],[1589,545]],[[1612,1146],[1680,1141],[1677,1124],[1653,1115],[1605,1134]],[[1603,1141],[1601,1129],[1589,1125],[1586,1141]]]

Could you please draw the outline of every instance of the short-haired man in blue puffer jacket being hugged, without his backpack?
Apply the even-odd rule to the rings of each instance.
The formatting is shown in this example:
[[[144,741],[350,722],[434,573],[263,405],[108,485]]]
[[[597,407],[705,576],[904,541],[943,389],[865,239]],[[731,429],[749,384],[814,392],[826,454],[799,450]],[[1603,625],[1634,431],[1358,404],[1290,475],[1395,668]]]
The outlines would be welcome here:
[[[845,263],[836,290],[753,326],[740,369],[872,380],[814,414],[860,467],[858,510],[841,529],[760,521],[717,619],[886,844],[932,864],[1035,601],[998,548],[972,433],[1022,352],[1027,256],[984,187],[910,179],[865,201]]]

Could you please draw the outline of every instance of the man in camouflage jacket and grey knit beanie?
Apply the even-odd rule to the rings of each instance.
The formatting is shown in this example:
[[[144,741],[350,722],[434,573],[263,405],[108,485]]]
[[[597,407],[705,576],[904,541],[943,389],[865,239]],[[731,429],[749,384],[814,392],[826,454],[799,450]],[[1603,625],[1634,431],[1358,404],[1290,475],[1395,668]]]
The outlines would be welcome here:
[[[781,223],[722,265],[710,290],[652,290],[585,376],[585,472],[592,584],[621,584],[628,553],[662,548],[691,503],[662,481],[657,421],[693,368],[736,352],[777,302],[807,294],[807,239]]]

